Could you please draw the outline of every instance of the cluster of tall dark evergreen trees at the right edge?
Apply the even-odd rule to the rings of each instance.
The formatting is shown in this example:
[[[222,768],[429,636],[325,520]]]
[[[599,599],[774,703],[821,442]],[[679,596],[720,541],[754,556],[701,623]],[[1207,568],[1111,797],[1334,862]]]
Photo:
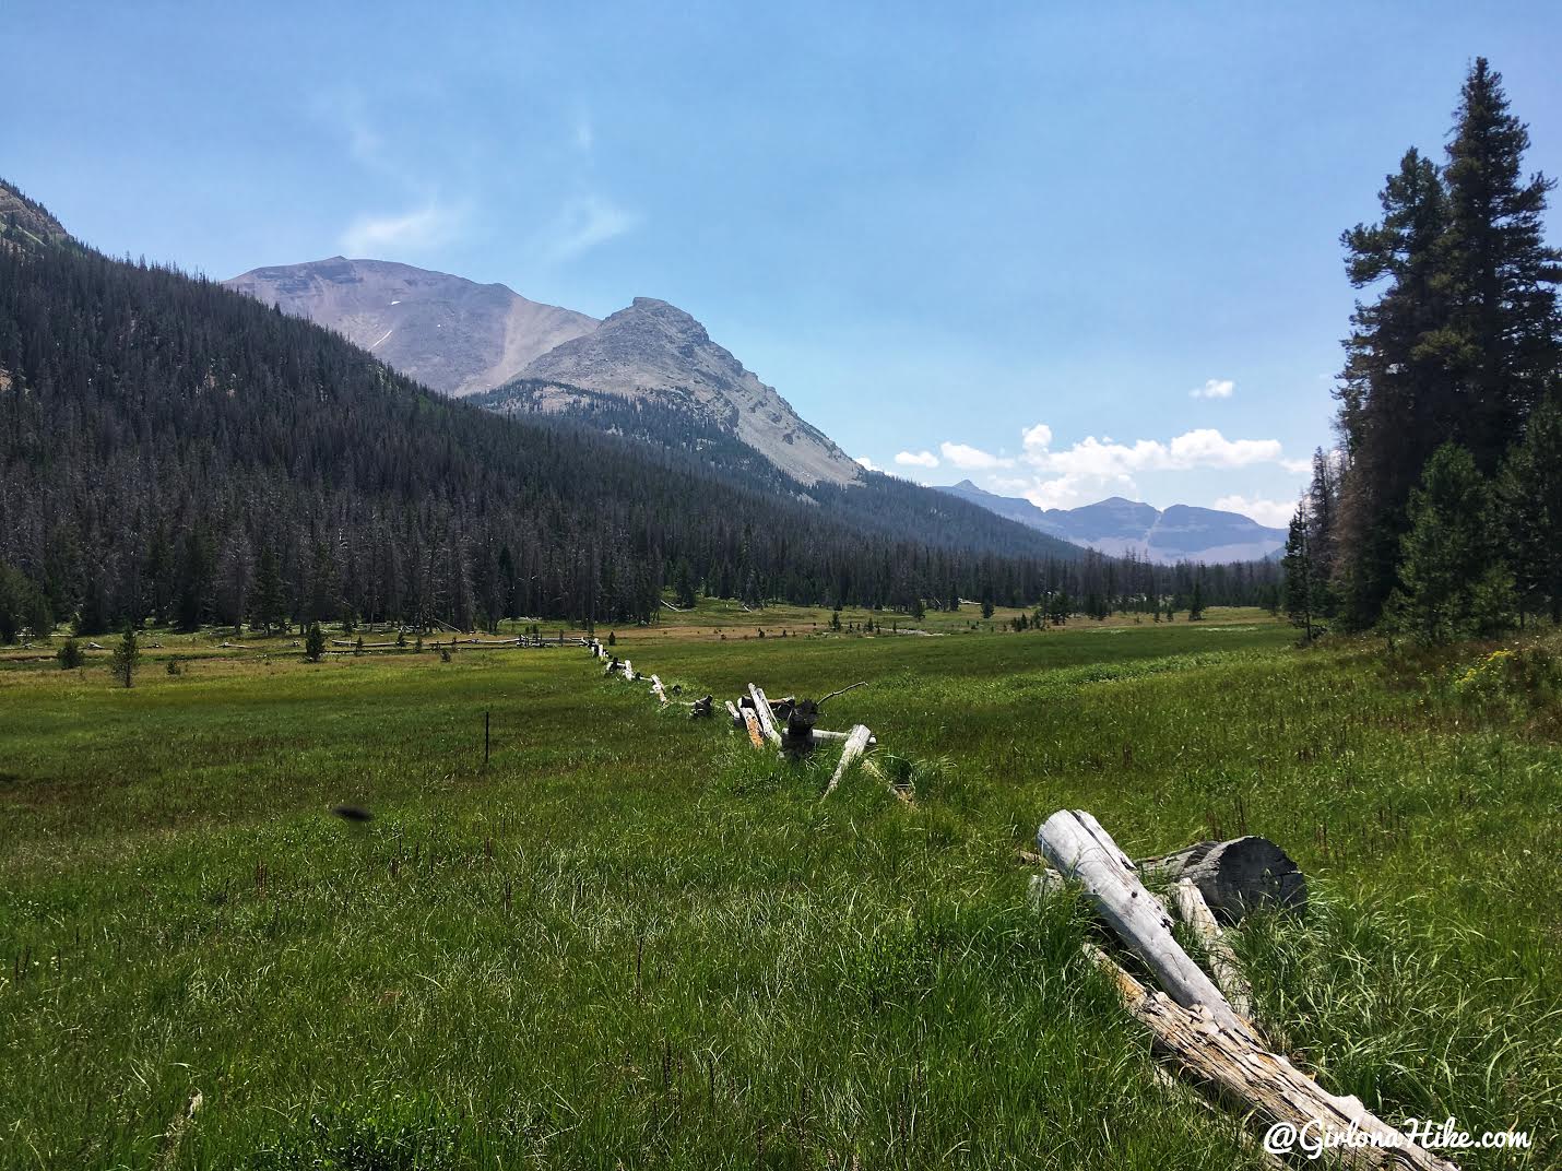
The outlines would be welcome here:
[[[1439,166],[1389,175],[1382,219],[1342,237],[1357,301],[1337,389],[1340,445],[1286,546],[1286,609],[1437,643],[1562,621],[1562,251],[1554,181],[1478,58]]]

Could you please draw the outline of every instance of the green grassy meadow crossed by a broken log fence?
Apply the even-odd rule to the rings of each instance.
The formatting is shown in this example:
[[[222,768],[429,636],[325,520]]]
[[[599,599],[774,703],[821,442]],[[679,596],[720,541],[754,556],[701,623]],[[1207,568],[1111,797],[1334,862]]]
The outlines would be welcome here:
[[[1562,735],[1454,695],[1492,648],[973,610],[615,632],[684,698],[867,681],[825,723],[870,724],[915,806],[865,774],[820,804],[831,760],[578,648],[162,635],[131,690],[12,653],[0,1165],[1261,1166],[1157,1084],[1082,909],[1029,904],[1017,848],[1065,806],[1132,854],[1279,842],[1314,902],[1237,934],[1265,1027],[1390,1121],[1535,1132],[1467,1168],[1556,1165]]]

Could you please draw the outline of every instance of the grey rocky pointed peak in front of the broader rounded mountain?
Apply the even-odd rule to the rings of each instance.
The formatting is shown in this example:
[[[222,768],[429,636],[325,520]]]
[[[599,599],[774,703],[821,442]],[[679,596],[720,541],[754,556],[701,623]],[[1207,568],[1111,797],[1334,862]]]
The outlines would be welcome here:
[[[592,333],[542,354],[525,376],[623,398],[687,401],[803,484],[850,484],[861,473],[828,436],[712,342],[700,322],[651,297],[636,297]]]

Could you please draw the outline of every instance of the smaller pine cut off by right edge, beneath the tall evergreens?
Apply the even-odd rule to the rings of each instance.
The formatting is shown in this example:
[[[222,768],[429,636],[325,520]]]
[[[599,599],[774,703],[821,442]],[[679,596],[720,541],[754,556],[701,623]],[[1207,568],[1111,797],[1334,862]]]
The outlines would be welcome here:
[[[1562,406],[1546,398],[1496,484],[1521,610],[1562,623]]]

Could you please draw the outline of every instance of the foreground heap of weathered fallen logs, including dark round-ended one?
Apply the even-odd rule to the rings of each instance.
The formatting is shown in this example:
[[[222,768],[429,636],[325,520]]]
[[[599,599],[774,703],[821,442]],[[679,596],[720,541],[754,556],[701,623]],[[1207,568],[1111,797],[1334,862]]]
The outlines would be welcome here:
[[[1265,838],[1201,842],[1136,863],[1079,809],[1053,813],[1036,842],[1056,867],[1032,884],[1037,895],[1047,898],[1070,881],[1082,885],[1101,921],[1161,990],[1086,945],[1090,960],[1111,976],[1129,1015],[1150,1034],[1151,1049],[1198,1088],[1264,1127],[1287,1124],[1315,1135],[1340,1166],[1457,1171],[1361,1099],[1328,1093],[1273,1052],[1248,1020],[1251,993],[1217,913],[1234,924],[1261,906],[1295,912],[1306,904],[1306,879],[1279,846]],[[1172,877],[1167,899],[1156,898],[1140,874]],[[1211,973],[1173,937],[1172,909],[1200,938]]]

